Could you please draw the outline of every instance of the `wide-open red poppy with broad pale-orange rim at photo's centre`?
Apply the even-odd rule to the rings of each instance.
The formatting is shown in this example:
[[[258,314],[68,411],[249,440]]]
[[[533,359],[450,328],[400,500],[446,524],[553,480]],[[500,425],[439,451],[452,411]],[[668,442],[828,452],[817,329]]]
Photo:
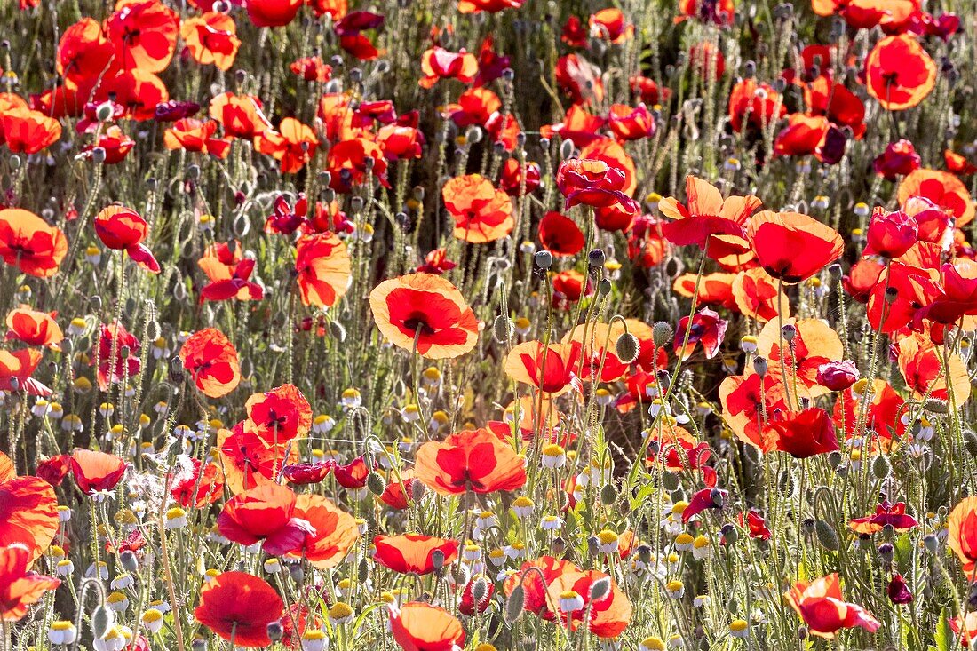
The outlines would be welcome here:
[[[381,282],[370,292],[369,304],[380,333],[421,357],[455,358],[478,343],[475,313],[441,276],[409,274]]]

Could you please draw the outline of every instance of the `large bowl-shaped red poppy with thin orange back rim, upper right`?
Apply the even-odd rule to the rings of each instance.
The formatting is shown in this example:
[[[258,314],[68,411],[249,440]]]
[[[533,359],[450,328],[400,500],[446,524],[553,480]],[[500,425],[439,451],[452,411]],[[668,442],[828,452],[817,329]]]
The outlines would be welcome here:
[[[759,265],[784,282],[806,281],[844,251],[834,229],[796,212],[759,212],[749,220],[746,236]]]

